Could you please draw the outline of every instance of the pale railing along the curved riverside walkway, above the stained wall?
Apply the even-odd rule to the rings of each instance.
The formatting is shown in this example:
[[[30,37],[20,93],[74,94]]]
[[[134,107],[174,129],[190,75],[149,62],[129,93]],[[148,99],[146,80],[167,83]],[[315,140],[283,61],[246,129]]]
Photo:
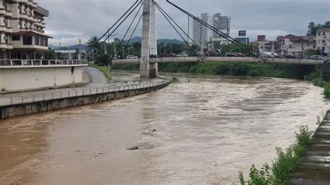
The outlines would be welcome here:
[[[27,104],[33,102],[42,102],[47,100],[54,99],[63,99],[68,97],[80,97],[86,95],[98,95],[103,93],[112,93],[112,92],[120,92],[123,90],[135,90],[142,88],[150,88],[154,86],[159,86],[165,83],[170,82],[171,80],[164,81],[152,81],[146,83],[137,83],[130,85],[122,85],[122,86],[108,86],[101,88],[84,88],[84,89],[72,89],[65,90],[61,92],[52,92],[52,93],[42,93],[42,94],[34,94],[34,95],[22,95],[17,97],[0,97],[0,106],[10,106],[15,104]],[[1,96],[1,95],[0,95]]]

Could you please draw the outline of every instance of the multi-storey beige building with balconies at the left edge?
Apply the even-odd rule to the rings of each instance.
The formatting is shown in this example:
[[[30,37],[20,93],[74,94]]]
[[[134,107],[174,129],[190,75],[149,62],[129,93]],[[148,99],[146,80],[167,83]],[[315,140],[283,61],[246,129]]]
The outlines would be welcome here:
[[[33,0],[0,0],[0,59],[37,59],[48,51],[45,17]]]

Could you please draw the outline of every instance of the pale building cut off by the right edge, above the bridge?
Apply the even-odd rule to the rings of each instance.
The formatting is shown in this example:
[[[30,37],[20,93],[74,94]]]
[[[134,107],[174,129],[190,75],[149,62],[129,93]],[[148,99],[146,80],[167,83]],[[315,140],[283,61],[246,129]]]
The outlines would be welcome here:
[[[320,54],[330,56],[330,28],[317,29],[316,45]]]

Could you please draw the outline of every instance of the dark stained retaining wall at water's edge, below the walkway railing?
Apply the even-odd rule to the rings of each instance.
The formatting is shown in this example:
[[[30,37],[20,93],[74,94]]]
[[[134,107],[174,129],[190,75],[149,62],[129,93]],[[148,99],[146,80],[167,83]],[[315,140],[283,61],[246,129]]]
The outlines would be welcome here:
[[[0,107],[0,120],[13,118],[22,115],[29,115],[34,113],[42,113],[47,111],[55,111],[61,108],[69,108],[74,106],[83,106],[88,104],[96,104],[100,102],[106,102],[113,99],[120,99],[124,97],[132,97],[135,95],[141,95],[144,93],[150,93],[152,91],[165,88],[171,83],[168,81],[158,86],[152,86],[148,88],[139,88],[134,90],[120,90],[111,93],[102,93],[97,95],[86,95],[79,97],[68,97],[63,99],[53,99],[42,102],[33,102],[28,104],[17,104],[12,106]]]

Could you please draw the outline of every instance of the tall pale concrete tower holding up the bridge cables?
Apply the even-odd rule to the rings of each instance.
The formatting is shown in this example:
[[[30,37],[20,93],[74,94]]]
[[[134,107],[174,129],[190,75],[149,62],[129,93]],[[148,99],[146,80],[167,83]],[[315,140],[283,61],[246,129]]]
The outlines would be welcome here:
[[[155,78],[158,64],[150,63],[150,56],[157,56],[155,4],[152,0],[143,0],[143,24],[141,41],[141,78]]]

